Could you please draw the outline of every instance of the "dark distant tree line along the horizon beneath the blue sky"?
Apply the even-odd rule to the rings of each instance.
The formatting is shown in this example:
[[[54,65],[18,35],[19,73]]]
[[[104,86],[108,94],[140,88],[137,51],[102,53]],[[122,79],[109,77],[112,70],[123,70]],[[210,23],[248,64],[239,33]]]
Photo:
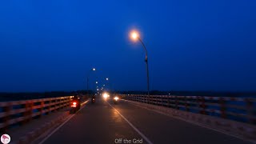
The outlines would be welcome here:
[[[147,94],[146,91],[109,91],[114,94]],[[74,94],[94,94],[94,91],[50,91],[50,92],[28,92],[28,93],[0,93],[0,102],[18,101],[37,98],[54,98],[70,96]],[[211,96],[211,97],[256,97],[256,92],[215,92],[215,91],[150,91],[151,95],[178,95],[178,96]]]

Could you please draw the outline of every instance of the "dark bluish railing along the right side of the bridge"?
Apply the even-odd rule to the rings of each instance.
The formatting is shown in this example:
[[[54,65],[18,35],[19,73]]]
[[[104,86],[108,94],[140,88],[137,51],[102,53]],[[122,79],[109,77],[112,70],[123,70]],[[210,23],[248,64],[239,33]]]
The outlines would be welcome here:
[[[122,98],[166,106],[196,114],[206,114],[238,122],[256,124],[256,98],[175,96],[175,95],[122,95]]]

